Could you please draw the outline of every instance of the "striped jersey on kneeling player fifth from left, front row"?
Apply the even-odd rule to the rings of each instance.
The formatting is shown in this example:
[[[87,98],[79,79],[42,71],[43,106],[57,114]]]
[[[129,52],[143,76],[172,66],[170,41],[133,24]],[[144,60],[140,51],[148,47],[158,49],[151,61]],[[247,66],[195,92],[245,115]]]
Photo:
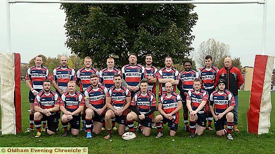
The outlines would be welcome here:
[[[155,96],[149,91],[145,95],[139,91],[133,96],[131,106],[135,106],[138,112],[146,114],[151,110],[151,107],[156,106]],[[152,114],[148,118],[152,118]]]

